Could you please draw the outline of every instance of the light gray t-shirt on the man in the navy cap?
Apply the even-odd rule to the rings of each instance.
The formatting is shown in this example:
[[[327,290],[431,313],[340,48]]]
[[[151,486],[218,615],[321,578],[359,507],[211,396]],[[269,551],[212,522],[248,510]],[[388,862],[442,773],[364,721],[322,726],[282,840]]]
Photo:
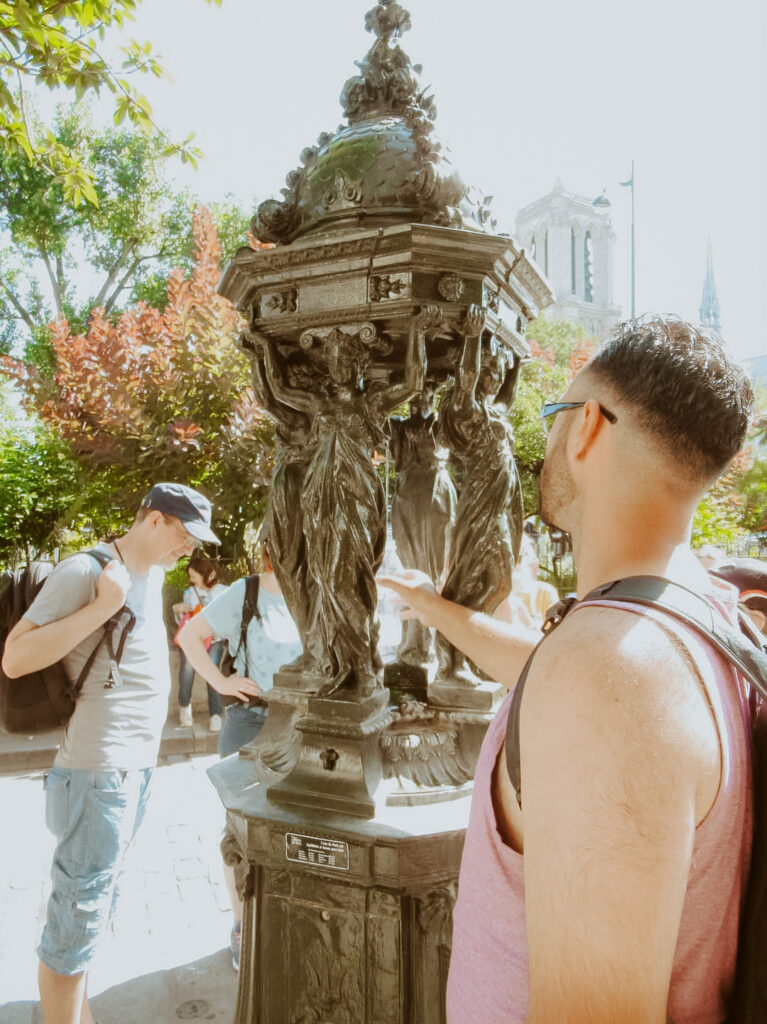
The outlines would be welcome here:
[[[109,549],[101,548],[110,554]],[[96,596],[100,565],[89,555],[74,555],[57,565],[25,613],[36,626],[63,618]],[[170,668],[163,621],[165,573],[153,566],[144,575],[130,572],[127,604],[136,616],[120,659],[122,683],[104,686],[110,674],[106,644],[101,644],[69,721],[55,763],[85,771],[150,768],[157,762],[168,714]],[[115,633],[115,646],[122,621]],[[99,627],[63,658],[67,675],[78,678],[86,658],[101,639]]]

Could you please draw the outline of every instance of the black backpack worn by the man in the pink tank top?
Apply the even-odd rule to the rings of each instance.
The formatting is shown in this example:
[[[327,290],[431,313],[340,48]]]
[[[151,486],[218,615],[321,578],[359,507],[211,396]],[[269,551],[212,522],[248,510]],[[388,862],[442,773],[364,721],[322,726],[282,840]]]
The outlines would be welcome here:
[[[630,577],[603,584],[581,601],[566,598],[554,605],[544,624],[546,637],[576,604],[600,600],[625,601],[657,608],[679,620],[706,637],[720,653],[729,658],[752,685],[755,701],[752,717],[754,774],[754,840],[751,868],[745,889],[735,964],[735,987],[730,998],[727,1024],[765,1024],[767,1022],[767,653],[764,638],[751,620],[740,612],[740,630],[728,626],[712,605],[679,584],[662,577]],[[540,646],[540,644],[538,645]],[[524,683],[529,673],[532,651],[514,689],[506,731],[506,766],[521,806],[519,764],[519,711]]]

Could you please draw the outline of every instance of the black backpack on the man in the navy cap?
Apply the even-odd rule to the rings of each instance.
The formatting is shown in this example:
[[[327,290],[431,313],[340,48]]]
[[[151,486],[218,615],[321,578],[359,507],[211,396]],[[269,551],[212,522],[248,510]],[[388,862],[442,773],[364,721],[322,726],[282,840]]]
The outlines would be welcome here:
[[[96,550],[79,554],[90,555],[102,568],[113,557]],[[53,567],[51,562],[32,562],[27,568],[4,573],[4,587],[0,593],[0,656],[5,648],[8,634],[40,593]],[[115,651],[113,634],[121,621],[123,631],[118,649]],[[66,725],[72,717],[75,701],[88,678],[101,644],[106,642],[110,656],[118,665],[127,635],[134,625],[135,615],[125,606],[108,620],[103,625],[101,638],[88,655],[74,683],[67,678],[60,660],[28,675],[18,676],[16,679],[6,676],[0,666],[0,723],[3,728],[8,732],[31,734]]]

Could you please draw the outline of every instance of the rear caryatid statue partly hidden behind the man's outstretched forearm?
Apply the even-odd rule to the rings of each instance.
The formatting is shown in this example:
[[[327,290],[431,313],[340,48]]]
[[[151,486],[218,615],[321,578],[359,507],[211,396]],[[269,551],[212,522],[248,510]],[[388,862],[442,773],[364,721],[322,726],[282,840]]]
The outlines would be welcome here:
[[[397,474],[391,529],[402,565],[421,569],[438,584],[456,516],[456,488],[445,465],[448,453],[437,440],[433,407],[434,386],[427,382],[411,399],[411,415],[389,420]],[[429,629],[416,618],[406,620],[397,652],[400,671],[416,670],[417,681],[425,684],[431,648]]]

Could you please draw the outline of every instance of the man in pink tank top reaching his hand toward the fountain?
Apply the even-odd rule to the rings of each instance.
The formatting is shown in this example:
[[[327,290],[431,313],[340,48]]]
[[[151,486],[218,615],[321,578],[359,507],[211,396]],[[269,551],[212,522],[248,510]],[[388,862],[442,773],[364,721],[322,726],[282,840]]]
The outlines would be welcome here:
[[[545,407],[542,514],[572,539],[579,597],[664,577],[734,624],[735,589],[709,577],[689,540],[752,407],[716,335],[662,317],[621,325]],[[382,582],[513,689],[528,631],[444,601],[418,574]],[[726,1018],[752,835],[742,689],[669,614],[609,595],[574,605],[479,756],[451,1024]]]

